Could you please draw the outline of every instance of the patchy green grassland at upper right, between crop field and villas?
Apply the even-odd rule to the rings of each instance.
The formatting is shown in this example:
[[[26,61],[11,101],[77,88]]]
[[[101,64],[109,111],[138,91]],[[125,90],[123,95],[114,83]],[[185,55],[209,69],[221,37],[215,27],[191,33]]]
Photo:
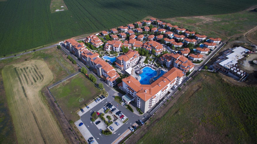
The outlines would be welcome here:
[[[243,11],[233,14],[221,14],[200,17],[180,17],[165,20],[208,37],[226,37],[243,35],[257,25],[257,12]]]

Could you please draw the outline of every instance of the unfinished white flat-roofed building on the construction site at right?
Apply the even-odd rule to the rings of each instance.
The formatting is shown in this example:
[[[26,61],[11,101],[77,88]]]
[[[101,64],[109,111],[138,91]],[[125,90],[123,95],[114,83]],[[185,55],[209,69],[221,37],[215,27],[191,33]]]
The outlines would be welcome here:
[[[239,81],[242,80],[248,74],[239,68],[237,61],[244,58],[243,55],[248,51],[249,50],[241,46],[225,51],[224,54],[213,63],[213,69],[217,71],[220,70],[232,77],[236,77]]]

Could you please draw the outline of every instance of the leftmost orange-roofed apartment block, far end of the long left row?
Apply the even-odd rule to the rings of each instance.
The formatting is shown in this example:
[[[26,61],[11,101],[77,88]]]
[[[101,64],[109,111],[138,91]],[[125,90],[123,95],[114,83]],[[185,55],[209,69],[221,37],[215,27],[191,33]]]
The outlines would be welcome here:
[[[86,48],[84,43],[78,43],[75,39],[67,39],[63,43],[66,49],[68,49],[78,58],[80,58],[81,50]]]

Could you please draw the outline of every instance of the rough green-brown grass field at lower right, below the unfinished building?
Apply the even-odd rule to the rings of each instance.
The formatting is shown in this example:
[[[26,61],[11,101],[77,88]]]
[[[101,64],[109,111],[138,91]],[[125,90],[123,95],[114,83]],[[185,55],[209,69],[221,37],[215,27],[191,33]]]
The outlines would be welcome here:
[[[138,143],[256,142],[256,85],[231,85],[211,72],[199,73],[186,85],[187,91]]]

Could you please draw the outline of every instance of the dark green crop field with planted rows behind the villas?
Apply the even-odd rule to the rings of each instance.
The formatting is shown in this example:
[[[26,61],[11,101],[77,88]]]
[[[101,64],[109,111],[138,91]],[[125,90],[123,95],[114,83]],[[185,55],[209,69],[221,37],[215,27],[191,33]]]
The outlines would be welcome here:
[[[51,13],[51,0],[0,1],[0,56],[153,16],[171,18],[232,13],[256,5],[242,1],[64,0],[68,10]]]

